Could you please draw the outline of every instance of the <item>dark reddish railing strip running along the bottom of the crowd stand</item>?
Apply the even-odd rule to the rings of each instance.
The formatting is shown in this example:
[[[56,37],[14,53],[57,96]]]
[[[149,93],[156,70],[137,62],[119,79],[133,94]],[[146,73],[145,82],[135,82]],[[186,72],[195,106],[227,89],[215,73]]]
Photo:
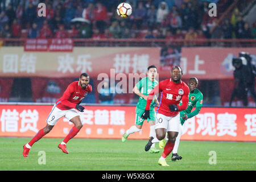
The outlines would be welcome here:
[[[2,46],[24,46],[25,38],[0,39]],[[85,47],[256,47],[256,39],[73,39],[74,46]]]

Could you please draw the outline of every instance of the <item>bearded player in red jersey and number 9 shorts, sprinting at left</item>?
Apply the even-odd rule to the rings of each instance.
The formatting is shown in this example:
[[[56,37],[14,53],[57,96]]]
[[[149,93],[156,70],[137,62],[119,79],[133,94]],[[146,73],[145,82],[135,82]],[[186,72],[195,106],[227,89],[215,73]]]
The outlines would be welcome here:
[[[25,158],[28,156],[28,152],[30,151],[32,145],[44,135],[49,133],[56,122],[63,116],[75,125],[69,131],[67,137],[64,138],[63,142],[61,142],[58,146],[64,153],[68,154],[66,146],[68,140],[75,137],[82,127],[80,114],[77,110],[80,112],[84,111],[84,107],[80,106],[79,104],[88,93],[92,92],[92,86],[89,85],[89,81],[89,75],[87,73],[82,73],[79,81],[74,81],[68,85],[68,88],[63,93],[63,96],[57,100],[55,105],[52,107],[52,111],[46,119],[46,127],[39,130],[35,137],[30,140],[30,142],[24,144],[23,156]]]

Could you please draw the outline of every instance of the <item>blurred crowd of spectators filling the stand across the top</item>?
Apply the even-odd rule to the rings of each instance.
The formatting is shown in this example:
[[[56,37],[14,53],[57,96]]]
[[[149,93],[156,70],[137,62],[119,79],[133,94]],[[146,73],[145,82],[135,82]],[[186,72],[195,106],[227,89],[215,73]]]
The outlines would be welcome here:
[[[44,18],[37,16],[40,2],[46,4]],[[122,1],[1,1],[0,38],[256,38],[256,23],[250,26],[245,22],[238,8],[211,32],[218,17],[209,18],[209,2],[206,0],[130,0],[126,1],[133,7],[133,14],[129,18],[117,16],[116,7],[120,2]],[[232,1],[221,2],[230,5]],[[80,17],[88,21],[71,21]],[[23,35],[23,32],[26,34]]]

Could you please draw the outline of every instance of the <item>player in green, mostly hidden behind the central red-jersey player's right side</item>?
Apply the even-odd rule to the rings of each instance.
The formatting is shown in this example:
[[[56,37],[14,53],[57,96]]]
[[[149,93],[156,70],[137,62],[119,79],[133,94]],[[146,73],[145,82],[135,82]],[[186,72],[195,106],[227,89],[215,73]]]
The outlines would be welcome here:
[[[191,77],[188,80],[188,87],[189,87],[189,101],[188,101],[188,107],[186,110],[180,111],[180,131],[179,134],[176,138],[175,145],[174,145],[174,150],[172,150],[172,160],[181,160],[182,156],[179,156],[177,154],[177,149],[179,147],[180,143],[180,136],[182,134],[182,129],[184,122],[188,118],[192,118],[195,115],[199,114],[201,107],[203,105],[203,94],[200,92],[199,89],[197,89],[198,85],[198,80],[196,77]],[[180,103],[182,105],[182,103]],[[196,109],[192,111],[193,107],[196,106]],[[167,139],[163,139],[159,142],[159,147],[163,148],[164,145],[166,144]]]

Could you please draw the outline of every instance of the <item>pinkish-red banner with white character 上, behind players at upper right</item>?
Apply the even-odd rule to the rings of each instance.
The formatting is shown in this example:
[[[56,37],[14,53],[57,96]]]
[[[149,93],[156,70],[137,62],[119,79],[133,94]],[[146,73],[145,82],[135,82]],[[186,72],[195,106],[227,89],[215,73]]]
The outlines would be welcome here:
[[[256,48],[183,47],[180,58],[183,78],[233,78],[232,59],[242,51],[256,55]],[[170,77],[170,69],[162,68],[159,77]]]

